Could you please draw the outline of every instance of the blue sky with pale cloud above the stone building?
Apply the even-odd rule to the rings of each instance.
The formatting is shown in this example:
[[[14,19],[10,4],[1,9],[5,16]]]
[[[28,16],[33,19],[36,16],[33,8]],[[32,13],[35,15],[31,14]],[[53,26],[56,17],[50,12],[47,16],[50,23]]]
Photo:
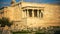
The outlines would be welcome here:
[[[16,0],[19,2],[21,0]],[[60,4],[60,0],[24,0],[25,2],[36,2],[36,3],[50,3],[50,4]],[[0,8],[3,6],[9,6],[11,0],[0,0]]]

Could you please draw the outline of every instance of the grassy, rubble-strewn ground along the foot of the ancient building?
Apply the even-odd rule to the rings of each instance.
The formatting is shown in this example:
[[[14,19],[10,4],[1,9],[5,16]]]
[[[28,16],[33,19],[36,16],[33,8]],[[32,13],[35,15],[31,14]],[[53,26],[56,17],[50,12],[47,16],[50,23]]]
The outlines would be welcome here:
[[[21,31],[0,30],[0,34],[60,34],[60,26],[27,28]]]

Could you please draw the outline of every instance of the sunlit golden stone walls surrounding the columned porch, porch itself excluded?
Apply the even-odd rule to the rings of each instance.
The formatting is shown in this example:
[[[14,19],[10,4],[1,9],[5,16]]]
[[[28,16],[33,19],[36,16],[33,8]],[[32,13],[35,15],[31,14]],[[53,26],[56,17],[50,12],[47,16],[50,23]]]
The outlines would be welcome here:
[[[23,7],[43,7],[43,18],[23,18]],[[26,9],[29,9],[26,8]],[[34,8],[33,8],[34,9]],[[14,21],[13,28],[60,26],[60,5],[22,2],[9,6],[4,16]]]

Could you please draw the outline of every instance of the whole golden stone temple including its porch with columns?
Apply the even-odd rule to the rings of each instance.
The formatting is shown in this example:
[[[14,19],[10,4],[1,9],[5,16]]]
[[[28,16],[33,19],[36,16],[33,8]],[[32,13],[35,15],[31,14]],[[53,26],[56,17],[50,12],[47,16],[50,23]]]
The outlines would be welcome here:
[[[60,26],[60,5],[12,1],[3,10],[3,17],[13,21],[11,29]]]

